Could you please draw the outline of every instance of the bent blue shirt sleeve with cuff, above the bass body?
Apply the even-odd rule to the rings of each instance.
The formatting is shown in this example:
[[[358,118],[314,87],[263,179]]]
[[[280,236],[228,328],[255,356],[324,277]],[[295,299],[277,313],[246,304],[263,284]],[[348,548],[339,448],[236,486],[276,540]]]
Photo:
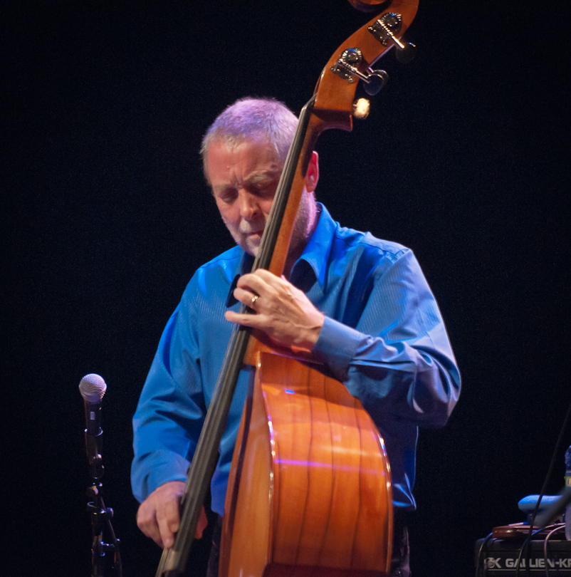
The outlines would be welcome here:
[[[379,422],[441,426],[460,393],[444,321],[412,251],[379,264],[355,328],[325,318],[313,355]]]

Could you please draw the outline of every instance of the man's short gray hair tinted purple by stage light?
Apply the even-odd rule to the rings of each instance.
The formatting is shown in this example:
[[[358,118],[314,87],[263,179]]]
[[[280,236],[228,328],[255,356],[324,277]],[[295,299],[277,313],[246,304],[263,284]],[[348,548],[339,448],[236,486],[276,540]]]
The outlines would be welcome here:
[[[202,139],[200,154],[206,180],[206,156],[214,142],[234,147],[247,138],[263,135],[276,151],[277,160],[285,162],[297,125],[295,114],[278,100],[252,97],[236,100],[216,117]]]

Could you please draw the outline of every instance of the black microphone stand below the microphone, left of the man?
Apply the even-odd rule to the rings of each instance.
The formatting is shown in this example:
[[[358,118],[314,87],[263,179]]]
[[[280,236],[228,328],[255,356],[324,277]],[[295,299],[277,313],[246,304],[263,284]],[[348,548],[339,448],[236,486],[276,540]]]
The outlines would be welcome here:
[[[120,541],[115,536],[115,531],[111,525],[113,509],[105,506],[101,494],[103,489],[103,484],[100,481],[103,477],[103,462],[100,454],[101,435],[103,435],[102,430],[99,431],[98,435],[90,435],[88,430],[85,430],[85,445],[88,447],[88,455],[95,455],[89,459],[92,484],[87,489],[87,497],[90,499],[87,510],[91,514],[93,536],[91,541],[91,577],[105,577],[103,572],[105,553],[113,553],[112,576],[122,577]],[[103,541],[105,526],[108,528],[111,543]]]

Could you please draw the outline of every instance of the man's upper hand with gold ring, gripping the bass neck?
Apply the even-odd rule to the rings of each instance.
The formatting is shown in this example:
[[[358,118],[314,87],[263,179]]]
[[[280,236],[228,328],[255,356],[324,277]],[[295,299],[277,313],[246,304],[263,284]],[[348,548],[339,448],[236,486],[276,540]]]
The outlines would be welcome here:
[[[285,277],[263,269],[245,274],[238,280],[234,297],[256,314],[226,311],[226,320],[262,331],[294,353],[311,353],[325,315]]]

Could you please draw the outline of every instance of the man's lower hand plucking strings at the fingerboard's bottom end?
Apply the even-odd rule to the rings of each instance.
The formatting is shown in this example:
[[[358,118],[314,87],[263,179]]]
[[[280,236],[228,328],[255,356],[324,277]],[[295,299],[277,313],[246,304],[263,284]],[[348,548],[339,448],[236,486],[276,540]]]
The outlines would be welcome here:
[[[170,481],[157,487],[143,501],[137,511],[137,526],[159,547],[172,547],[174,534],[179,530],[180,499],[184,482]],[[200,539],[208,521],[204,506],[200,511],[195,539]]]

